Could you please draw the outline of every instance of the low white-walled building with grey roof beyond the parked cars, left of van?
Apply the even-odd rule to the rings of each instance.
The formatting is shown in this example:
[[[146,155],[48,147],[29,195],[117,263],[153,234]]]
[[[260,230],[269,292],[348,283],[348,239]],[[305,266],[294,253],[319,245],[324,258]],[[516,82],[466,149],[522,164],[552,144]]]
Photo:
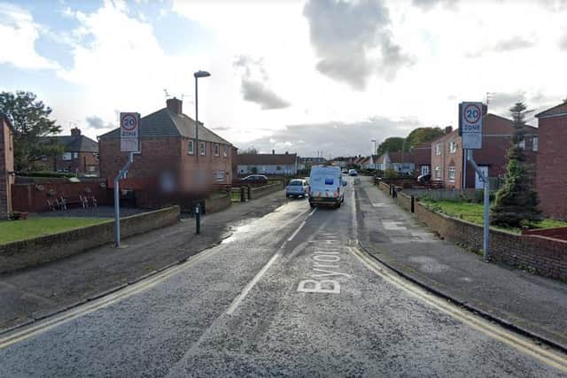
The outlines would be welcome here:
[[[298,173],[298,158],[295,153],[276,154],[243,153],[237,155],[238,174],[293,175]]]

